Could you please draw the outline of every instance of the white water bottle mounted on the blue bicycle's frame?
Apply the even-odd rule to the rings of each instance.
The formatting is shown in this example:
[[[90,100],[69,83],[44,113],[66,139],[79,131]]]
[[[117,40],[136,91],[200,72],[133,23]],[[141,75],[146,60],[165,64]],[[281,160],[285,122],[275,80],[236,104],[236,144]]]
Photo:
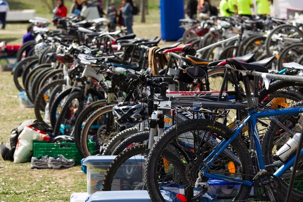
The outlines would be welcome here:
[[[298,147],[299,139],[301,133],[295,133],[292,139],[288,140],[278,151],[277,157],[284,162],[286,161],[292,154],[295,153],[295,150]]]

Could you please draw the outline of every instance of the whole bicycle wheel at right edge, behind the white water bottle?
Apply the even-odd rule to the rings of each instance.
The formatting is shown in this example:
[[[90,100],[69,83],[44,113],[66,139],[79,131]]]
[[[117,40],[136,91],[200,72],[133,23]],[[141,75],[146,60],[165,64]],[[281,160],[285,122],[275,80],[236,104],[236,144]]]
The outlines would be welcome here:
[[[295,105],[290,106],[291,107],[303,107],[303,103],[299,102]],[[295,115],[285,115],[285,116],[277,116],[280,122],[282,122],[285,126],[287,126],[289,129],[291,129],[295,133],[301,132],[302,125],[302,114],[295,114]],[[263,138],[262,142],[262,153],[264,157],[264,163],[265,165],[272,164],[273,162],[279,160],[279,158],[276,156],[277,151],[279,148],[281,148],[289,139],[291,139],[292,136],[285,132],[280,126],[277,124],[271,122],[266,134]],[[277,168],[273,168],[268,170],[269,173],[274,173]],[[290,179],[292,169],[289,169],[284,173],[280,178],[280,194],[277,195],[277,198],[280,201],[285,201],[285,196],[287,194],[288,190],[288,183]],[[295,182],[293,184],[293,190],[291,192],[291,198],[290,201],[302,201],[303,200],[303,192],[301,187],[301,184],[303,179],[303,159],[300,159],[296,176],[295,176]],[[300,188],[300,189],[299,189]]]

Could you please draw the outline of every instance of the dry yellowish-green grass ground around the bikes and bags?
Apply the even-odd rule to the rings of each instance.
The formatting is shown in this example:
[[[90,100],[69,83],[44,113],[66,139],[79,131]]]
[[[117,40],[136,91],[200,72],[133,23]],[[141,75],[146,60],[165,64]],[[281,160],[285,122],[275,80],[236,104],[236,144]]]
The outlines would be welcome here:
[[[45,15],[37,15],[45,17]],[[47,15],[46,15],[47,17]],[[135,17],[134,33],[137,37],[160,37],[160,12],[150,10],[146,23]],[[21,44],[26,24],[8,24],[0,41]],[[162,45],[164,43],[162,42]],[[0,141],[8,142],[11,130],[24,120],[34,119],[32,108],[20,108],[18,90],[10,72],[0,73]],[[43,191],[42,191],[43,190]],[[72,192],[86,191],[86,175],[80,166],[63,170],[36,170],[30,163],[14,164],[0,158],[0,201],[69,201]]]

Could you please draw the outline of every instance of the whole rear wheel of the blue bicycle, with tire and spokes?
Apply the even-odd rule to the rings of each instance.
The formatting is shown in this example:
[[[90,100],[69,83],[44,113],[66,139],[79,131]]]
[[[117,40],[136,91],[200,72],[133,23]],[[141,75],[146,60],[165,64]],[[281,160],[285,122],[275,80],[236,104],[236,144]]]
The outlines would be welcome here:
[[[198,129],[198,130],[197,130]],[[196,131],[197,130],[197,131]],[[201,160],[196,159],[196,155],[200,156],[201,152],[203,150],[199,150],[197,145],[201,145],[201,148],[205,148],[205,157],[208,156],[208,154],[213,150],[213,148],[218,145],[223,140],[229,139],[231,135],[233,134],[233,131],[230,130],[227,126],[222,125],[218,122],[212,122],[211,120],[207,119],[194,119],[194,120],[188,120],[184,121],[180,124],[177,124],[167,131],[165,131],[155,142],[153,147],[151,147],[149,154],[147,156],[146,160],[146,167],[145,167],[145,184],[147,187],[147,191],[149,193],[149,196],[151,200],[153,201],[167,201],[164,199],[164,197],[161,194],[161,190],[167,190],[167,186],[169,182],[159,180],[159,176],[161,177],[163,171],[159,172],[158,169],[158,163],[161,158],[161,154],[164,150],[171,151],[173,154],[176,154],[174,151],[174,148],[181,147],[182,150],[186,151],[187,155],[190,158],[189,162],[184,162],[184,166],[186,167],[186,172],[182,173],[180,176],[186,176],[186,179],[188,180],[188,184],[182,184],[180,186],[179,184],[176,184],[173,182],[170,182],[171,184],[174,184],[174,187],[183,187],[182,192],[179,193],[184,198],[184,201],[190,200],[192,201],[192,198],[186,197],[184,195],[184,190],[186,190],[189,187],[194,186],[196,179],[198,178],[198,171],[201,169]],[[195,139],[203,139],[204,135],[212,135],[210,137],[210,140],[216,140],[216,143],[210,143],[205,144],[204,141],[198,141],[195,142]],[[214,137],[214,136],[215,137]],[[199,137],[199,138],[196,138]],[[250,159],[250,155],[248,152],[247,147],[245,146],[244,142],[237,137],[235,140],[231,142],[231,144],[226,148],[228,151],[232,153],[231,156],[225,155],[227,154],[223,151],[223,153],[214,161],[214,163],[209,167],[207,170],[208,173],[220,173],[221,175],[225,176],[233,176],[237,177],[243,180],[251,180],[252,179],[252,162]],[[196,154],[194,154],[196,153]],[[180,159],[183,160],[184,156],[179,155]],[[235,161],[235,158],[237,159]],[[232,162],[232,163],[230,163]],[[229,168],[226,168],[224,165],[232,164],[234,165],[233,170],[231,171]],[[170,165],[170,162],[166,162],[166,165]],[[167,166],[166,166],[167,167]],[[161,179],[161,178],[160,178]],[[220,197],[220,199],[223,200],[224,197],[229,196],[230,198],[230,191],[229,190],[218,190],[217,187],[214,186],[214,183],[211,179],[205,179],[204,182],[207,182],[209,185],[208,191],[211,192],[214,195],[217,195],[217,197]],[[224,182],[223,182],[224,183]],[[226,182],[225,182],[226,184]],[[233,186],[234,183],[231,184]],[[246,200],[249,193],[250,193],[250,186],[247,185],[240,185],[238,187],[238,191],[235,192],[235,195],[233,195],[234,200]],[[201,191],[205,191],[204,189],[194,189],[196,191],[197,195]],[[172,198],[170,201],[174,201],[175,198],[178,197],[178,194],[176,197]],[[185,199],[186,198],[186,199]],[[203,199],[196,198],[197,201],[200,201]]]

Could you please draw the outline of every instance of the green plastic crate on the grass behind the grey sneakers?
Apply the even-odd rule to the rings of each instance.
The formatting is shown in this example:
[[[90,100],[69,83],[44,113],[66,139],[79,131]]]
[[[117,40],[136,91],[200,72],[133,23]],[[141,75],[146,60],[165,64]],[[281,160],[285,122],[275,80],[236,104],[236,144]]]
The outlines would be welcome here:
[[[95,150],[95,144],[95,142],[88,143],[90,151]],[[76,143],[45,143],[39,141],[33,142],[33,157],[58,157],[59,155],[63,155],[67,159],[74,159],[75,164],[81,164],[81,160],[83,159],[83,156],[77,149]]]

